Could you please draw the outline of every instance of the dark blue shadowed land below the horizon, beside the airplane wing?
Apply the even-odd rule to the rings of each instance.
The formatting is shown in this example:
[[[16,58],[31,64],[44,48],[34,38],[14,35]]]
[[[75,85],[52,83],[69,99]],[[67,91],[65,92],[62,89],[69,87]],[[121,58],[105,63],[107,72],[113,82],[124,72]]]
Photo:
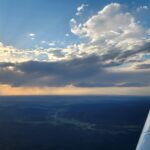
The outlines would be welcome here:
[[[0,97],[0,150],[135,150],[150,97]]]

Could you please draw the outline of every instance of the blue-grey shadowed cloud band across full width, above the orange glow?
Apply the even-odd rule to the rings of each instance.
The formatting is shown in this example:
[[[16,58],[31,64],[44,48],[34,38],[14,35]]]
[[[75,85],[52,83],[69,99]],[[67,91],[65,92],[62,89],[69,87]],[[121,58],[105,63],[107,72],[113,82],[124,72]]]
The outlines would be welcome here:
[[[106,65],[102,57],[97,55],[58,62],[1,63],[0,83],[11,86],[49,87],[150,86],[150,70],[139,69],[130,72],[109,70],[111,66],[117,65],[117,63]]]

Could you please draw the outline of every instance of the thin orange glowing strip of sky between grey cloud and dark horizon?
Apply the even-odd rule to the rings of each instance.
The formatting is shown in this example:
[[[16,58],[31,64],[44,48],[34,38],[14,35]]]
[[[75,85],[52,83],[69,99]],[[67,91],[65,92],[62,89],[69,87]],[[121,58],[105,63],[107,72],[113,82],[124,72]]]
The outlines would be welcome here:
[[[11,87],[0,85],[1,96],[19,95],[150,95],[150,87]]]

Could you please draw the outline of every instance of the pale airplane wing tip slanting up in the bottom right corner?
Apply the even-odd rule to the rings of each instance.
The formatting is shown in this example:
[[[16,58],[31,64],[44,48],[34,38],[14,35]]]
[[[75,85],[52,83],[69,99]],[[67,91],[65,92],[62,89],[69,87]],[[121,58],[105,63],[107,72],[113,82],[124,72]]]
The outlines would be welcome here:
[[[148,114],[136,150],[150,150],[150,112]]]

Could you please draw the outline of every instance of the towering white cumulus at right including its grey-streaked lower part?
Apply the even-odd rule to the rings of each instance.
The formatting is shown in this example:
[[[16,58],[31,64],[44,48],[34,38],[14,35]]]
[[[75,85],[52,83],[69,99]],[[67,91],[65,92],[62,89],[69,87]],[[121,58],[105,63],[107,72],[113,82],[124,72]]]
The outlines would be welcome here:
[[[78,54],[95,53],[107,64],[119,65],[142,61],[144,54],[149,53],[149,29],[119,3],[105,6],[84,23],[72,18],[70,24],[73,34],[88,39],[74,46]]]

